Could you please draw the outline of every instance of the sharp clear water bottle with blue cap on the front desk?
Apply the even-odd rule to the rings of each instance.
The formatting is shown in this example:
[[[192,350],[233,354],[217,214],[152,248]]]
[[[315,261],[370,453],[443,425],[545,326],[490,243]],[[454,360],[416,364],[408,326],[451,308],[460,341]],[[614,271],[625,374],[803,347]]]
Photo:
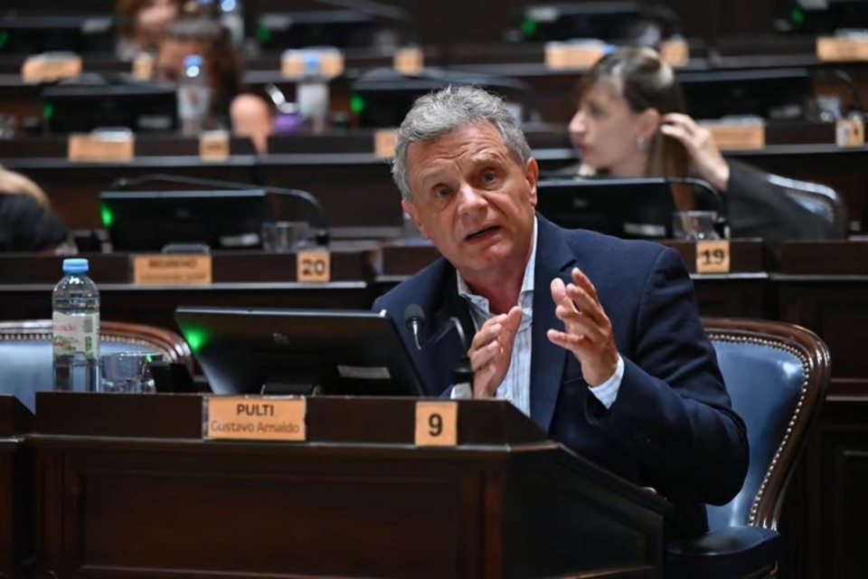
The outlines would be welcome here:
[[[63,279],[52,294],[54,389],[95,392],[99,366],[99,289],[88,261],[63,260]]]

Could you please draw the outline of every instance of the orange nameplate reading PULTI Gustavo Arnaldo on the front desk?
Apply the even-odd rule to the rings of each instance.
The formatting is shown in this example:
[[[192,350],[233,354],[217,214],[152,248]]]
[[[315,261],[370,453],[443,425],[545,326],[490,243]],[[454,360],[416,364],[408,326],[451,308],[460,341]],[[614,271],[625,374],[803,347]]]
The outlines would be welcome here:
[[[305,441],[304,398],[208,396],[203,438],[227,441]]]

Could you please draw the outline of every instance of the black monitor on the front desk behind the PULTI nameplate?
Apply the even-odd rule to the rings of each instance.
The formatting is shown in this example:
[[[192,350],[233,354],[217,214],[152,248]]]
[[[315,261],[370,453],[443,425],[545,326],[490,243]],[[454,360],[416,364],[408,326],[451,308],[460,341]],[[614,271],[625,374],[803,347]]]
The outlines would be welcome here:
[[[175,321],[215,394],[423,395],[384,311],[177,308]]]

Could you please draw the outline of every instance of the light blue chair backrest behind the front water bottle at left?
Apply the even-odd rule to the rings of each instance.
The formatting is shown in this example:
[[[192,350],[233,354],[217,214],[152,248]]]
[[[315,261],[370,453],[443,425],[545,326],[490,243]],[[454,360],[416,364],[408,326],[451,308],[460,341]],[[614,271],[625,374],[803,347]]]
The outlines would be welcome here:
[[[99,351],[162,354],[193,372],[193,355],[184,339],[159,327],[101,320]],[[52,321],[0,322],[0,393],[14,394],[33,412],[36,392],[51,390],[53,381]]]

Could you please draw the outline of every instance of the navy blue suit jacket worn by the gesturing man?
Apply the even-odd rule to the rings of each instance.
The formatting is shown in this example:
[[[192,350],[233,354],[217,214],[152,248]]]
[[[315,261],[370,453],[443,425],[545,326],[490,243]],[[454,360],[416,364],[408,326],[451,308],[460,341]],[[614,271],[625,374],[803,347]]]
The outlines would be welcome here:
[[[748,442],[744,423],[731,410],[681,256],[657,243],[568,231],[539,214],[537,220],[531,418],[552,439],[671,500],[671,538],[702,533],[703,503],[725,504],[741,489]],[[576,357],[546,337],[550,327],[563,327],[549,285],[555,277],[569,283],[573,267],[596,287],[624,359],[618,398],[609,409],[590,393]],[[453,316],[462,321],[468,341],[473,337],[448,261],[441,258],[403,281],[373,308],[400,320],[413,303],[427,320],[421,339]],[[401,333],[429,394],[443,393],[461,355],[458,338],[419,352],[410,332],[401,327]]]

